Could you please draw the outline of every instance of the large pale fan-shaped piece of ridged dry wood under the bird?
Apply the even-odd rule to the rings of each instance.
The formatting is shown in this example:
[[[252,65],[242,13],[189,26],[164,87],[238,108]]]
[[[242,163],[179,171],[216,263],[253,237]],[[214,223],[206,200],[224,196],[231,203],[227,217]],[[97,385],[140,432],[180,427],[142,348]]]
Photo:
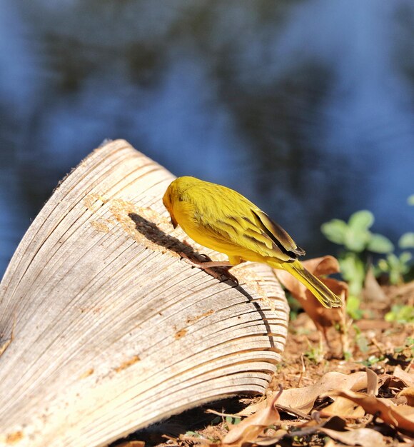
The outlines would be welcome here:
[[[118,140],[64,179],[0,285],[0,445],[101,446],[200,403],[263,393],[286,341],[271,271],[192,268],[173,176]],[[182,243],[187,241],[191,246]]]

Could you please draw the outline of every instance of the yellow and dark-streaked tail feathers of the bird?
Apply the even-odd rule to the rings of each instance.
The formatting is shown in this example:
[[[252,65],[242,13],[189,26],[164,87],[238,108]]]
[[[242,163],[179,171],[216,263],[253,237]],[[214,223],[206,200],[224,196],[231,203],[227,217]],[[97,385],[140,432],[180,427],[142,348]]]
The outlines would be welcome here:
[[[300,261],[286,262],[281,264],[281,267],[295,276],[298,281],[301,281],[306,288],[308,288],[313,295],[318,298],[318,301],[325,307],[340,307],[343,306],[342,300],[335,295],[324,283],[322,283],[316,276],[302,265]]]

